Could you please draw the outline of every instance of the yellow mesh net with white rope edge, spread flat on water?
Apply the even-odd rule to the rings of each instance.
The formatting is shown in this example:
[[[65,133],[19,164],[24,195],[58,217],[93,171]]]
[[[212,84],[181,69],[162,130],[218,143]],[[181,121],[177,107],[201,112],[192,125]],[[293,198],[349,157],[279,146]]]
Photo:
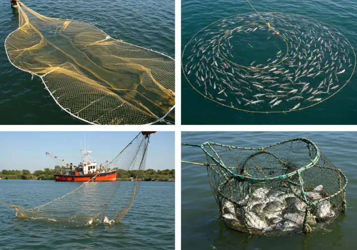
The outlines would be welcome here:
[[[79,21],[50,18],[19,3],[19,28],[5,49],[37,75],[60,107],[90,124],[175,122],[175,60]]]

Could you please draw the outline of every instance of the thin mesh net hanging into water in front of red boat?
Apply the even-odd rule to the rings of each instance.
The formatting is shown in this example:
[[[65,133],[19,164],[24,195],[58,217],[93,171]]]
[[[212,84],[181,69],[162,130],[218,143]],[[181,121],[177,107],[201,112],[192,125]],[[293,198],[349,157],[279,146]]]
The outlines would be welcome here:
[[[52,227],[83,227],[115,224],[124,218],[139,191],[141,181],[121,181],[120,170],[145,170],[150,135],[141,132],[107,165],[118,169],[112,182],[95,182],[96,176],[67,194],[32,209],[12,206],[22,219],[42,220]],[[94,181],[93,181],[94,180]],[[65,188],[65,187],[63,187]],[[1,202],[0,202],[1,203]],[[2,203],[8,205],[6,203]]]

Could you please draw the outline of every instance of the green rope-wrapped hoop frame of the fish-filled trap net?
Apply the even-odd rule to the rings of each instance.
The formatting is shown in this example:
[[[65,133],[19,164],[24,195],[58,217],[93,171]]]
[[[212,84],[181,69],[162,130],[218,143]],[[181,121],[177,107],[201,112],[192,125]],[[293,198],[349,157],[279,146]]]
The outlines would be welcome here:
[[[232,202],[236,207],[239,207],[240,209],[243,209],[243,213],[246,212],[246,209],[250,206],[250,200],[252,198],[252,192],[251,192],[251,189],[249,187],[248,189],[248,195],[245,197],[245,198],[242,198],[240,200],[234,200],[233,198],[233,191],[236,190],[236,189],[233,189],[231,184],[233,182],[239,182],[239,181],[247,181],[249,183],[251,183],[251,185],[254,185],[254,183],[265,183],[266,181],[280,181],[280,180],[284,180],[290,176],[293,176],[293,175],[290,175],[288,176],[287,175],[282,175],[282,176],[279,176],[279,177],[275,177],[275,178],[267,178],[266,181],[261,181],[261,182],[257,182],[257,180],[259,179],[255,179],[255,178],[252,178],[252,177],[247,177],[245,178],[245,180],[243,179],[240,179],[240,178],[235,178],[234,175],[225,175],[224,173],[222,172],[218,172],[217,169],[214,168],[214,166],[220,166],[220,167],[223,167],[222,166],[222,162],[219,161],[220,160],[220,157],[219,155],[216,153],[216,151],[211,147],[211,145],[217,145],[217,146],[221,146],[221,147],[226,147],[226,148],[229,148],[229,149],[240,149],[240,150],[252,150],[252,151],[257,151],[257,152],[261,152],[262,150],[266,149],[266,148],[269,148],[269,147],[272,147],[272,146],[275,146],[275,145],[280,145],[280,144],[284,144],[284,143],[287,143],[287,142],[292,142],[292,141],[302,141],[302,142],[305,142],[305,143],[309,143],[309,145],[312,146],[312,149],[315,149],[316,150],[316,156],[314,157],[313,160],[311,160],[311,163],[305,165],[305,166],[302,166],[300,167],[298,170],[294,171],[294,172],[291,172],[289,173],[292,174],[292,173],[295,173],[297,172],[297,175],[298,175],[298,182],[299,183],[295,183],[295,182],[291,182],[289,180],[285,180],[284,182],[286,183],[290,183],[292,184],[292,186],[294,187],[297,187],[297,190],[293,190],[292,186],[288,187],[290,189],[290,191],[293,192],[293,194],[301,199],[302,202],[304,202],[306,204],[306,208],[305,208],[305,215],[304,215],[304,220],[303,220],[303,223],[302,225],[299,225],[302,229],[302,231],[297,231],[297,232],[294,232],[294,233],[286,233],[286,234],[276,234],[276,231],[275,232],[272,232],[272,233],[269,233],[269,232],[265,232],[265,231],[262,231],[262,232],[259,232],[257,231],[256,228],[252,227],[252,226],[249,226],[248,222],[247,222],[247,217],[244,216],[243,217],[243,226],[242,228],[240,229],[237,229],[237,228],[232,228],[231,225],[227,224],[227,220],[223,218],[223,213],[224,213],[224,209],[225,209],[225,204],[222,204],[223,201],[230,201]],[[246,147],[235,147],[235,146],[229,146],[229,145],[224,145],[224,144],[219,144],[219,143],[214,143],[214,142],[204,142],[200,145],[192,145],[192,144],[186,144],[186,143],[182,143],[182,145],[187,145],[187,146],[195,146],[195,147],[200,147],[206,154],[206,156],[208,156],[209,158],[211,158],[215,164],[209,164],[209,163],[204,163],[204,164],[198,164],[198,163],[192,163],[192,162],[185,162],[185,161],[181,161],[183,163],[189,163],[189,164],[196,164],[196,165],[201,165],[201,166],[206,166],[207,167],[207,172],[208,172],[208,175],[210,176],[210,171],[211,172],[216,172],[216,174],[220,175],[222,177],[222,181],[220,181],[218,183],[218,185],[215,187],[214,184],[211,183],[211,181],[209,181],[209,184],[211,186],[211,189],[213,191],[213,194],[214,194],[214,197],[217,201],[217,203],[219,204],[220,206],[220,218],[223,220],[223,222],[225,223],[225,225],[231,229],[231,230],[236,230],[238,232],[242,232],[242,233],[247,233],[247,234],[251,234],[251,235],[263,235],[263,236],[283,236],[283,235],[292,235],[292,234],[307,234],[307,233],[311,233],[315,230],[319,230],[321,229],[322,227],[317,227],[317,228],[313,228],[311,229],[311,227],[308,225],[309,223],[307,222],[307,218],[308,218],[308,215],[309,215],[309,211],[311,209],[312,206],[316,205],[317,203],[320,203],[322,201],[325,201],[325,200],[331,200],[333,197],[335,197],[336,195],[339,195],[341,194],[342,195],[342,208],[341,208],[341,214],[344,214],[346,212],[346,209],[347,209],[347,201],[346,201],[346,188],[347,188],[347,184],[348,184],[348,179],[346,177],[346,175],[344,173],[342,173],[341,169],[338,169],[336,167],[326,167],[326,166],[321,166],[321,164],[319,165],[311,165],[313,162],[315,163],[318,163],[318,160],[320,160],[320,151],[318,149],[318,147],[309,139],[306,139],[306,138],[296,138],[296,139],[290,139],[290,140],[286,140],[286,141],[283,141],[283,142],[278,142],[278,143],[274,143],[274,144],[271,144],[269,146],[265,146],[265,147],[261,147],[261,148],[246,148]],[[217,160],[215,157],[213,157],[212,155],[210,155],[209,153],[207,153],[207,150],[205,149],[205,147],[210,147],[211,150],[217,155],[217,158],[219,160]],[[311,149],[309,148],[309,151],[310,151],[310,156],[311,156]],[[254,154],[253,154],[254,155]],[[274,154],[271,154],[270,155],[276,157]],[[207,157],[207,158],[208,158]],[[324,156],[322,156],[324,157]],[[248,157],[249,158],[249,157]],[[277,158],[276,158],[277,159]],[[324,158],[322,158],[324,159]],[[243,162],[243,161],[242,161]],[[311,201],[309,202],[306,198],[306,195],[305,195],[305,187],[303,186],[303,180],[302,180],[302,177],[300,176],[300,173],[308,168],[311,168],[311,167],[325,167],[326,169],[329,169],[329,170],[333,170],[335,171],[336,173],[338,173],[338,185],[339,185],[339,189],[338,191],[336,191],[335,193],[333,194],[329,194],[328,196],[324,197],[324,198],[321,198],[321,199],[318,199],[318,200],[314,200],[314,201]],[[223,167],[224,168],[224,167]],[[228,173],[232,173],[230,172],[228,169],[226,169]],[[296,174],[296,173],[295,173]],[[239,176],[238,176],[239,177]],[[277,180],[278,179],[278,180]],[[344,181],[344,185],[342,186],[343,184],[343,181]],[[230,186],[230,194],[228,195],[227,193],[224,193],[224,191],[222,190],[223,188],[226,188],[226,186]],[[337,218],[337,217],[336,217]],[[330,222],[322,222],[324,223],[324,225],[329,225]]]

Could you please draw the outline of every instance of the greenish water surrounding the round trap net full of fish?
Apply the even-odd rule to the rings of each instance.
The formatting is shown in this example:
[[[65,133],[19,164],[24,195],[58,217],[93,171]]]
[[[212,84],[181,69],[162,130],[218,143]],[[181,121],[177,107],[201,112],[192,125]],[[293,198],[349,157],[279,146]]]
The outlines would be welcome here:
[[[357,233],[356,132],[182,132],[181,142],[206,141],[238,147],[263,147],[288,139],[305,137],[348,178],[347,212],[336,221],[308,235],[251,236],[226,228],[208,183],[206,167],[181,164],[182,249],[216,250],[336,250],[355,249]],[[181,146],[181,160],[206,162],[197,147]]]

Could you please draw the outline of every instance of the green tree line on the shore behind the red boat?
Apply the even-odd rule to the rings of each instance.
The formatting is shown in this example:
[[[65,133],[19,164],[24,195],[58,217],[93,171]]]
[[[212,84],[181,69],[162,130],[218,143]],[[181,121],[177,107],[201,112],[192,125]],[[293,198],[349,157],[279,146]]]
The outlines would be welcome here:
[[[44,170],[36,170],[31,173],[29,170],[2,170],[0,171],[0,179],[7,180],[54,180],[54,174],[57,172],[64,172],[64,166],[55,166],[54,169],[45,168]],[[123,170],[118,169],[118,179],[130,180],[132,178],[138,178],[144,181],[168,181],[175,180],[175,169],[165,170]]]

